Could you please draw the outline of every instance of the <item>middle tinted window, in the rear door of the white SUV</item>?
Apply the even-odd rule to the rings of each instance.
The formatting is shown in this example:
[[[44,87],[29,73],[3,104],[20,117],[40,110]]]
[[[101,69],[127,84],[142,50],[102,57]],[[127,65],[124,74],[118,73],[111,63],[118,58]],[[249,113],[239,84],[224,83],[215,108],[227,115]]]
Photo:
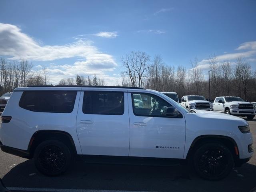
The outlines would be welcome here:
[[[124,114],[124,93],[86,91],[84,92],[83,113],[122,115]]]

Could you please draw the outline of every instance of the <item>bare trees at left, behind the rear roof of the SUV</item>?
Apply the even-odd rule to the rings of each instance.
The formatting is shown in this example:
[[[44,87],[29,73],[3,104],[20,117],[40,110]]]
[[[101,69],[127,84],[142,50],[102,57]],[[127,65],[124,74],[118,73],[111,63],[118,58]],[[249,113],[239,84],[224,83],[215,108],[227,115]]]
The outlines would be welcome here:
[[[26,87],[31,85],[49,85],[50,75],[46,66],[41,66],[38,70],[33,69],[33,64],[28,60],[7,61],[0,58],[0,95],[6,92],[12,92],[17,87]],[[63,78],[58,85],[93,85],[104,86],[104,79],[96,77],[84,78],[77,75],[76,78]]]

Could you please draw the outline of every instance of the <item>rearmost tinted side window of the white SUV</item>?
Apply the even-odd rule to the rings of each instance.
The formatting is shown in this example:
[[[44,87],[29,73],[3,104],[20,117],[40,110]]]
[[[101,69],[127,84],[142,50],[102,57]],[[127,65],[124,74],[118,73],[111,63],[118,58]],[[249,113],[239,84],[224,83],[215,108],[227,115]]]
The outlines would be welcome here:
[[[35,112],[71,113],[76,91],[25,91],[20,107]]]

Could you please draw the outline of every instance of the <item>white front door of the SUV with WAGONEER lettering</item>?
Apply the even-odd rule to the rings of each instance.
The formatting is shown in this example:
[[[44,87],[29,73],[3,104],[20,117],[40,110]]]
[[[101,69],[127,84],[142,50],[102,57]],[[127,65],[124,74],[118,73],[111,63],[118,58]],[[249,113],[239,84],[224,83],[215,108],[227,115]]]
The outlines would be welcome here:
[[[149,106],[147,101],[144,101],[143,107]],[[130,114],[129,156],[183,158],[186,134],[184,116],[183,118],[160,117],[158,110],[156,116],[136,116],[131,93],[128,93],[128,104]],[[159,105],[158,102],[158,107]],[[136,110],[136,114],[139,114],[138,112],[141,110]]]

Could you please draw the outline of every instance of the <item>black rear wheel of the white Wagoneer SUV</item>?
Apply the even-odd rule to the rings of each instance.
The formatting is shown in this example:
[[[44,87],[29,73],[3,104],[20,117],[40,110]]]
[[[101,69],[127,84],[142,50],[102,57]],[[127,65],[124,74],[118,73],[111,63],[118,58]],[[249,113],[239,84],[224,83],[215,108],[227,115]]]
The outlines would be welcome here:
[[[59,140],[45,140],[34,152],[34,163],[38,171],[48,176],[63,174],[71,165],[73,154]]]

